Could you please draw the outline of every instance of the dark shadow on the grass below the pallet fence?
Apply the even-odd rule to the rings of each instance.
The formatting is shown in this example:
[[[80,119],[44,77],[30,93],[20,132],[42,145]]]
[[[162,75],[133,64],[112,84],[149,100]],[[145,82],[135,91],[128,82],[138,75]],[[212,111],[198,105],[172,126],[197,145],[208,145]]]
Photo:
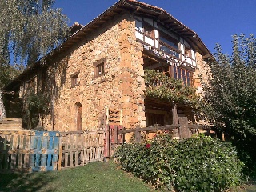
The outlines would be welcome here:
[[[0,174],[0,191],[52,191],[52,189],[44,190],[49,182],[52,182],[54,177],[42,173],[10,173]]]

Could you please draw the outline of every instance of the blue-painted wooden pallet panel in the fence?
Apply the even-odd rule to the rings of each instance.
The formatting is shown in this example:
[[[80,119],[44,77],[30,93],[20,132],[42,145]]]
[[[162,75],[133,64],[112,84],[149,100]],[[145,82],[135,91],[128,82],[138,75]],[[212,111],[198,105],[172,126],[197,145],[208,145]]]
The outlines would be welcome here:
[[[30,170],[49,171],[57,170],[58,165],[58,131],[35,131],[31,135]]]

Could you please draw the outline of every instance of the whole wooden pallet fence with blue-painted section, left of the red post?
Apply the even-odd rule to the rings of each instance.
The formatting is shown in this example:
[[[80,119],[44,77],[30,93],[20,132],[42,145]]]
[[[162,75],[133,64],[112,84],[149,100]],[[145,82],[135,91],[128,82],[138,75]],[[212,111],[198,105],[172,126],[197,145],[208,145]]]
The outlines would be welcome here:
[[[104,130],[0,131],[0,172],[49,171],[104,158]]]

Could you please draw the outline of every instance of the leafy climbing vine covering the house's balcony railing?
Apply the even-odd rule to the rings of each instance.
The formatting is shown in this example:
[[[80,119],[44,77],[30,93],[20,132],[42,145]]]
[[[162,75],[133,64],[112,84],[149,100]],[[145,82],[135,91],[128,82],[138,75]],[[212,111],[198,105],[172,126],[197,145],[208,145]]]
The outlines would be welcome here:
[[[145,70],[145,96],[172,103],[180,103],[198,109],[199,96],[195,88],[186,86],[182,80],[167,77],[156,70]]]

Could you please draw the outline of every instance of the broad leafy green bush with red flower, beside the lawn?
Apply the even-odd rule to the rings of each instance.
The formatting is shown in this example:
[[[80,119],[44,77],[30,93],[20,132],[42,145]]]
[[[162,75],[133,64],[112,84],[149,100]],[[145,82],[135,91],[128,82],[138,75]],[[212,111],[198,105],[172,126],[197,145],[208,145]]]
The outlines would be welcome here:
[[[161,190],[222,191],[242,182],[244,165],[235,148],[207,136],[178,141],[160,134],[144,144],[125,144],[114,157]]]

